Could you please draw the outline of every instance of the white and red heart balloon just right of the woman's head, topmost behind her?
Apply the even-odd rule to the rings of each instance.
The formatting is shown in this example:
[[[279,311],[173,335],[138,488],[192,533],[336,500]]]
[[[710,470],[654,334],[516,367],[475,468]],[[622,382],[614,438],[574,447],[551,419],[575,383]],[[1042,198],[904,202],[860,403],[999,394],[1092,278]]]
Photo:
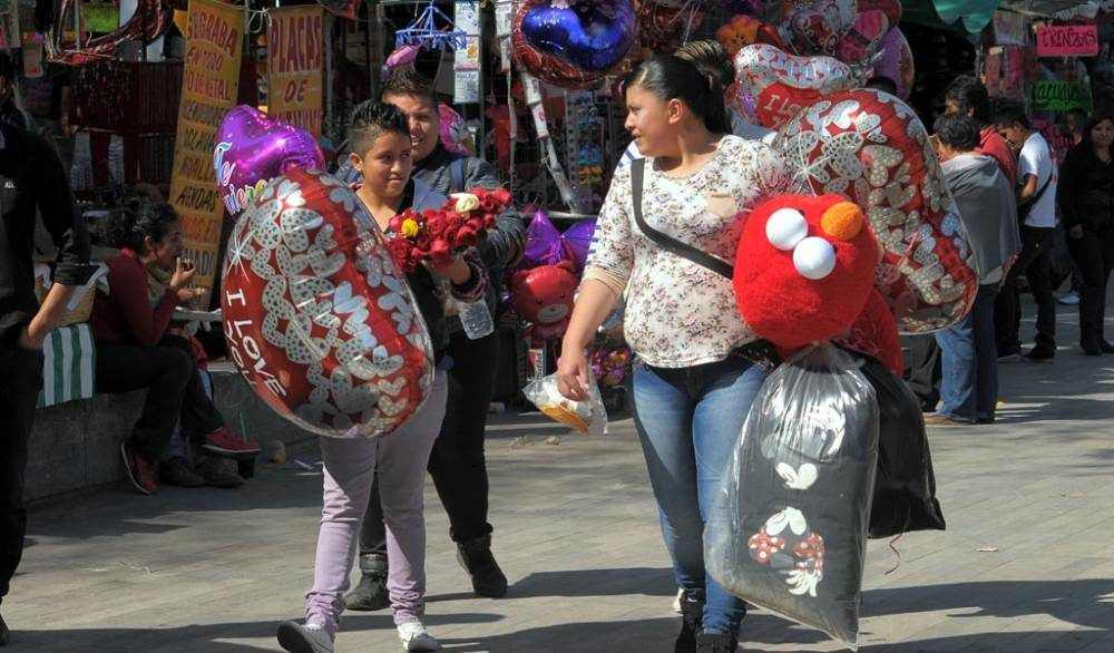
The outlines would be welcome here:
[[[798,57],[774,46],[746,46],[735,55],[739,101],[743,118],[775,129],[821,97],[856,86],[847,64],[831,57]]]

